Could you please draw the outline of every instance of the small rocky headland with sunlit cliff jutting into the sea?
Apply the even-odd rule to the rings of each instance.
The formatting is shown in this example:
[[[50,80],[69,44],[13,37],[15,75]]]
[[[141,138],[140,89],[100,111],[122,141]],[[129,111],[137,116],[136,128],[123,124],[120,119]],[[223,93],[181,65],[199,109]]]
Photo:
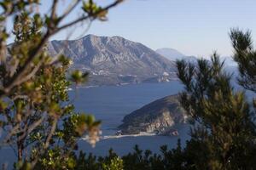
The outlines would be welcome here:
[[[183,123],[186,119],[177,95],[170,95],[126,115],[119,129],[122,134],[165,133],[170,127]]]

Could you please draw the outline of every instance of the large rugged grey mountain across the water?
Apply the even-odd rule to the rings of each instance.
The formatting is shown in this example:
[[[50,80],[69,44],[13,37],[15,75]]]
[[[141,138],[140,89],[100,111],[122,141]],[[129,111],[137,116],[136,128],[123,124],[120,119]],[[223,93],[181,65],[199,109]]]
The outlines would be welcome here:
[[[73,59],[71,69],[89,71],[90,85],[168,82],[176,75],[174,62],[123,37],[88,35],[72,41],[51,41],[48,50]]]

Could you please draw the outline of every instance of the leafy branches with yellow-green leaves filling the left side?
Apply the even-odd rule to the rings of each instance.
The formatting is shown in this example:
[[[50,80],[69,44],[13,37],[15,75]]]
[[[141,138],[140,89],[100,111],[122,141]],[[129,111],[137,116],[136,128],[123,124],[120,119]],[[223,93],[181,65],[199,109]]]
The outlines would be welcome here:
[[[99,7],[84,1],[83,14],[61,24],[81,0],[71,2],[62,13],[52,4],[48,14],[42,14],[39,0],[3,0],[0,2],[0,128],[4,130],[1,144],[15,150],[15,169],[74,169],[78,140],[85,136],[95,145],[101,131],[94,116],[74,111],[67,89],[85,82],[87,72],[73,71],[68,75],[70,59],[50,56],[49,37],[84,20],[106,20],[108,9],[121,1]],[[59,11],[58,11],[59,12]],[[13,19],[10,37],[6,21]],[[71,77],[71,78],[67,78]],[[120,167],[114,159],[110,167]],[[107,167],[106,167],[107,168]]]

